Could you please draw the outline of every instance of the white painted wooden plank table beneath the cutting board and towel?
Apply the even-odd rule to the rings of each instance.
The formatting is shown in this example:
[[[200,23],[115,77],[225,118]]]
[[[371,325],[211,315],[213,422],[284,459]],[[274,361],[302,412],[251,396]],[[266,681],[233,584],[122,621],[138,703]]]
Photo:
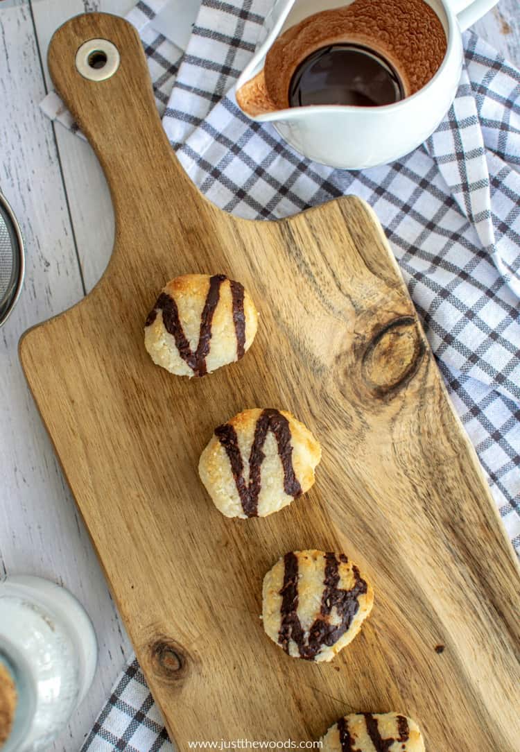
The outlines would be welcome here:
[[[125,14],[135,0],[0,0],[0,190],[26,238],[23,295],[0,329],[0,576],[30,572],[77,595],[92,616],[99,666],[89,696],[53,750],[76,752],[132,648],[32,402],[17,356],[20,335],[73,305],[110,257],[113,214],[89,145],[53,126],[39,102],[52,88],[47,45],[83,11]],[[520,65],[520,0],[500,0],[476,25]]]

